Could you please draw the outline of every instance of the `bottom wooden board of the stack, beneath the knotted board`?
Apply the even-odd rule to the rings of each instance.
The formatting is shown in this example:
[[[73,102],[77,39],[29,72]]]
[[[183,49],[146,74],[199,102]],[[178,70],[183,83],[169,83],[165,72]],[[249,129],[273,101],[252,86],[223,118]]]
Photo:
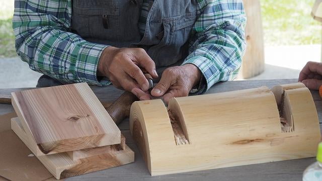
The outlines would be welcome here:
[[[32,150],[36,143],[27,136],[20,120],[13,118],[11,126],[17,136]],[[72,160],[67,153],[42,155],[37,158],[56,179],[60,179],[131,163],[134,161],[134,152],[125,146],[125,149],[114,149],[108,153],[78,160]]]

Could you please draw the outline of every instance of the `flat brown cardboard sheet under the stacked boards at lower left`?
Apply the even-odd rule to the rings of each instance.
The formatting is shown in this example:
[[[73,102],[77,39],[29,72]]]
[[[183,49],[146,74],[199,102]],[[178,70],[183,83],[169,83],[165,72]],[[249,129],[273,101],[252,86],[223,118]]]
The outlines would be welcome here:
[[[0,116],[0,176],[10,180],[45,180],[52,174],[11,130],[15,113]]]

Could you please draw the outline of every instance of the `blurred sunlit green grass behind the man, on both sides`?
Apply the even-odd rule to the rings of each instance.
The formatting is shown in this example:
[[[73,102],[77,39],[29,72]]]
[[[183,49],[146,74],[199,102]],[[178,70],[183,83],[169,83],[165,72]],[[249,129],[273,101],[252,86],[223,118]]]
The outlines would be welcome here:
[[[322,26],[310,12],[314,0],[260,0],[266,46],[321,43]],[[0,0],[0,58],[16,56],[13,0]]]

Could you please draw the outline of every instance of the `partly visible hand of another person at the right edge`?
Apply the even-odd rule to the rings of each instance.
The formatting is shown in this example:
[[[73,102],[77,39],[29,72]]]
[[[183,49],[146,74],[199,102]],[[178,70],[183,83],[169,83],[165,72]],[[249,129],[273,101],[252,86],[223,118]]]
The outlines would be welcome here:
[[[309,89],[318,90],[322,85],[322,63],[307,62],[300,72],[298,81],[305,84]]]

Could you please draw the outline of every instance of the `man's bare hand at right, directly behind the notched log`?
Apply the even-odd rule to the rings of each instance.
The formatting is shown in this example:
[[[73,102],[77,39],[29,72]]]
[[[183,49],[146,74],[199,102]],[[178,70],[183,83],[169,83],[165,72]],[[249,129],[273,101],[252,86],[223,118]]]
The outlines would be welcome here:
[[[167,68],[151,91],[153,97],[163,97],[165,103],[169,103],[170,98],[188,96],[191,88],[199,83],[201,71],[193,64],[185,64]],[[132,93],[140,100],[149,100],[148,92],[143,92],[134,88]]]

